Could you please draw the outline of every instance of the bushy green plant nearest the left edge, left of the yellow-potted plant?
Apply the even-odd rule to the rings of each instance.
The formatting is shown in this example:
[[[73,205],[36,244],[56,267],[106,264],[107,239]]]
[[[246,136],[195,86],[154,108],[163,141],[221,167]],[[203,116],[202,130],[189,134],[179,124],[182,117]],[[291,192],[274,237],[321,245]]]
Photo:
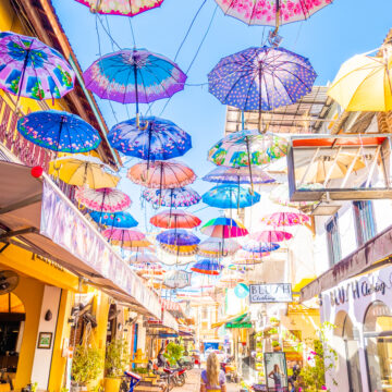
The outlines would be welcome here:
[[[79,385],[86,385],[99,376],[102,355],[98,348],[77,345],[72,359],[72,378]]]

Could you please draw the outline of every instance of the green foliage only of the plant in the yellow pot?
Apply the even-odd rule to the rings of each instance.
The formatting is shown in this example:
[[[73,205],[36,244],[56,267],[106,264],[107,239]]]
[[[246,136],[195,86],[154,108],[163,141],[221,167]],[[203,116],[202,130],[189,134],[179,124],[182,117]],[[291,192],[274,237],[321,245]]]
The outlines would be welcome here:
[[[114,339],[107,345],[105,357],[106,377],[121,377],[127,365],[128,350],[126,341]]]

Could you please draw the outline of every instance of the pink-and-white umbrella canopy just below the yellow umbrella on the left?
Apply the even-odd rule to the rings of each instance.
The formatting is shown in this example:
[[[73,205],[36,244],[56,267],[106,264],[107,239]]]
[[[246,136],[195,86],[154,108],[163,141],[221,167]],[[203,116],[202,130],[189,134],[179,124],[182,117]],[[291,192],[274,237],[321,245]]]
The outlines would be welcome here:
[[[128,195],[115,188],[77,188],[76,200],[93,211],[120,212],[126,210],[132,201]]]

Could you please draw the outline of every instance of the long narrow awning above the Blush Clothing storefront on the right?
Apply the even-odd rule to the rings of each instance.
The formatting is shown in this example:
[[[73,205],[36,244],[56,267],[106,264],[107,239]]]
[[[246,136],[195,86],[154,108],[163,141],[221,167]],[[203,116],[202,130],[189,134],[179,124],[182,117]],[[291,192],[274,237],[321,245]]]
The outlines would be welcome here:
[[[365,273],[381,264],[391,264],[391,255],[392,226],[389,226],[303,287],[301,290],[301,302],[311,299],[323,291],[334,287],[340,282],[359,273]]]

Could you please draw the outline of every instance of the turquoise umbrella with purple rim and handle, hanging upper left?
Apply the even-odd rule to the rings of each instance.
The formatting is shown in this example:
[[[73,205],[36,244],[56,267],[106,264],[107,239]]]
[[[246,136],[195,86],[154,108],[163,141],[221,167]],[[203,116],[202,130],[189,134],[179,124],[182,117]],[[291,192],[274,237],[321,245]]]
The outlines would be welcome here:
[[[124,49],[95,61],[83,74],[86,87],[99,98],[121,103],[150,103],[184,88],[179,65],[146,49]],[[137,121],[138,124],[138,121]]]

